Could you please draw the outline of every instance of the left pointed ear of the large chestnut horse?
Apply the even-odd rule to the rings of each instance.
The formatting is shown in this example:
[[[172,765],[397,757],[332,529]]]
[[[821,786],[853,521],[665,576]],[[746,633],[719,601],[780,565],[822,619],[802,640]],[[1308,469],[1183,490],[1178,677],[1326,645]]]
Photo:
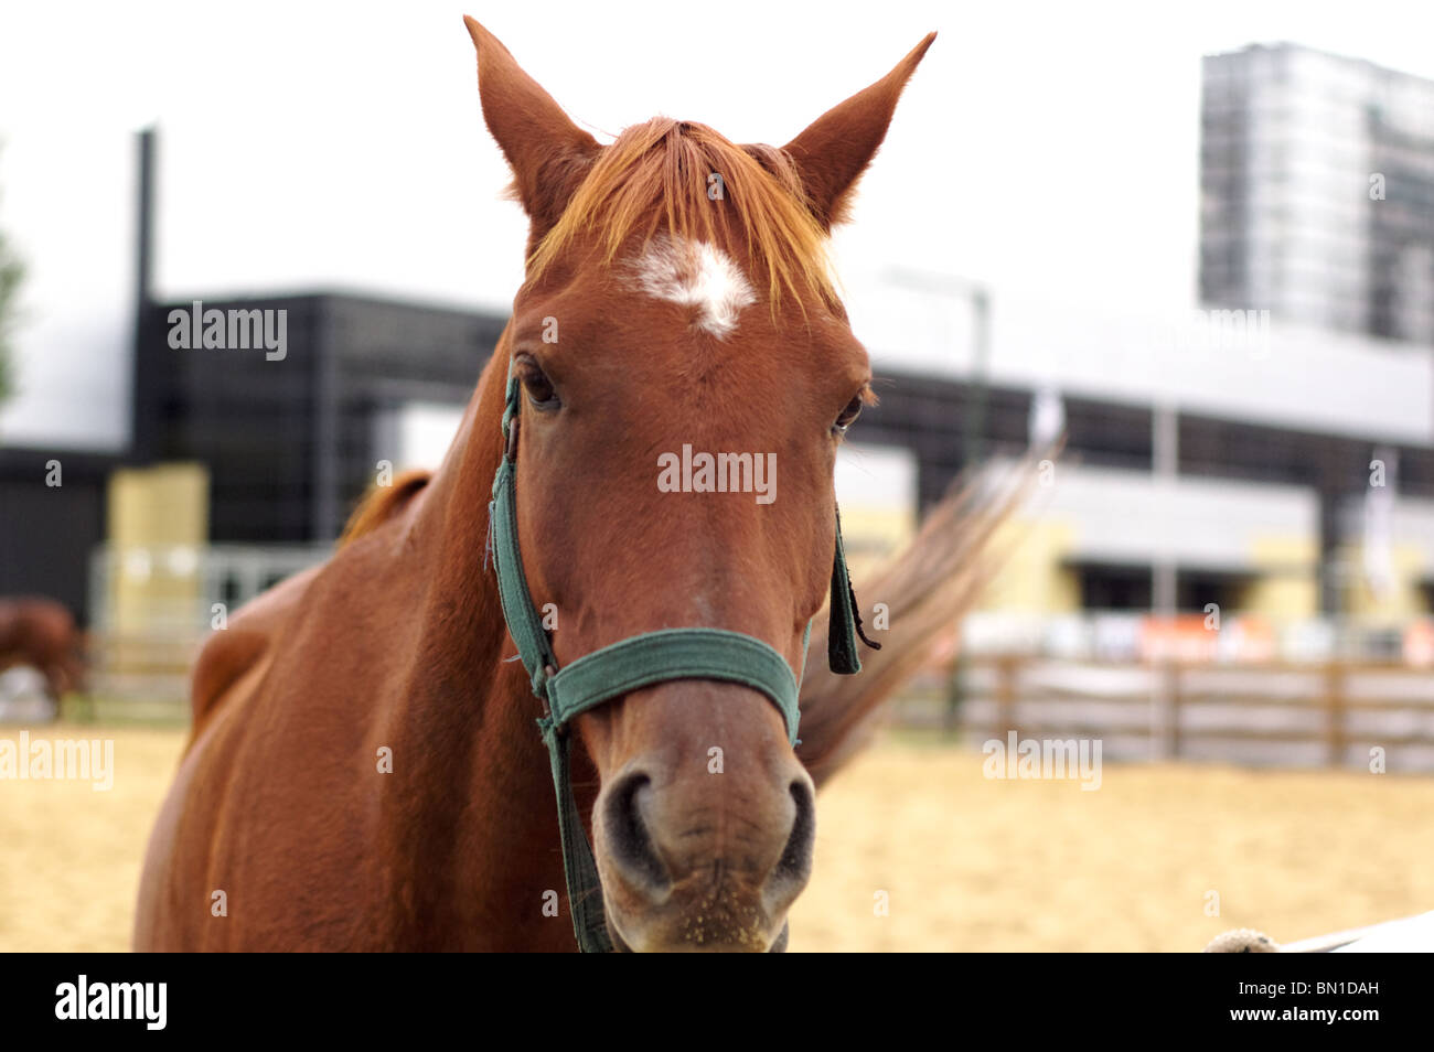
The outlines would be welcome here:
[[[463,24],[478,49],[483,120],[513,169],[512,195],[532,219],[535,245],[562,216],[602,148],[572,123],[498,37],[467,16]]]

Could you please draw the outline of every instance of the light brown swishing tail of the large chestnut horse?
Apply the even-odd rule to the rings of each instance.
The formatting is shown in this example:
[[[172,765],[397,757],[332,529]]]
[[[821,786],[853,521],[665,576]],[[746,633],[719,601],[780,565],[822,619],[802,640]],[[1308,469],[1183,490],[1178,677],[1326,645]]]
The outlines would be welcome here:
[[[891,631],[879,651],[862,651],[860,675],[837,675],[825,661],[807,665],[797,757],[819,787],[870,741],[882,702],[931,659],[1005,563],[1017,539],[995,543],[995,535],[1027,499],[1037,464],[1055,453],[1032,450],[1014,466],[989,464],[958,477],[915,540],[858,586],[868,603],[886,605]],[[825,618],[817,625],[813,654],[826,649]]]

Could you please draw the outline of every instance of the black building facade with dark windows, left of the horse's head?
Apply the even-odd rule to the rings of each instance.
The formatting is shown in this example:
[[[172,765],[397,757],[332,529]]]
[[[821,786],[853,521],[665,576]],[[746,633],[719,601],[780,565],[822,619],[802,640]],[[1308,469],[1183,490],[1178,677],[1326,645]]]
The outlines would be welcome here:
[[[211,540],[242,543],[336,537],[386,453],[376,446],[383,414],[410,400],[465,404],[506,324],[499,314],[333,292],[204,300],[201,317],[271,312],[267,331],[282,333],[282,353],[176,347],[192,337],[176,327],[188,328],[195,310],[145,311],[135,457],[204,462]]]

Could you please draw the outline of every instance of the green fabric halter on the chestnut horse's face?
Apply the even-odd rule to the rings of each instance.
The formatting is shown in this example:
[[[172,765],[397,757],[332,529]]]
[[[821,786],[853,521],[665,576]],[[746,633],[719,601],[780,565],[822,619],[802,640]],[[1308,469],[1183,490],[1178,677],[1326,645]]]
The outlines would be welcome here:
[[[612,950],[602,912],[602,883],[598,879],[592,846],[582,828],[578,803],[572,794],[569,770],[571,738],[568,724],[579,712],[631,691],[671,679],[717,679],[741,684],[764,694],[787,728],[787,741],[797,744],[799,681],[787,659],[773,646],[741,632],[720,628],[668,628],[630,636],[611,646],[587,654],[571,665],[558,666],[552,642],[533,606],[518,547],[518,410],[521,393],[512,363],[508,367],[508,393],[503,406],[503,459],[493,477],[493,499],[488,506],[489,543],[498,573],[498,595],[503,605],[508,632],[518,646],[518,656],[532,679],[533,694],[543,704],[538,721],[552,784],[558,795],[558,831],[562,837],[562,863],[568,879],[568,906],[578,947],[584,953]],[[862,671],[856,636],[873,649],[878,644],[860,631],[856,596],[846,572],[842,547],[842,519],[836,520],[836,553],[832,565],[832,618],[827,631],[827,661],[833,672],[850,675]],[[802,639],[802,664],[806,666],[807,623]]]

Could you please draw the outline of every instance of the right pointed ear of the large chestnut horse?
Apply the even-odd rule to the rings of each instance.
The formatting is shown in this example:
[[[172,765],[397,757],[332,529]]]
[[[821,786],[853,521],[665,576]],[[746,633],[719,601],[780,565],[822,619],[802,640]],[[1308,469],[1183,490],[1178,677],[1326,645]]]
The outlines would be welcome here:
[[[829,109],[783,148],[796,162],[807,204],[825,228],[846,219],[852,191],[886,138],[896,99],[935,39],[928,33],[896,69]]]

